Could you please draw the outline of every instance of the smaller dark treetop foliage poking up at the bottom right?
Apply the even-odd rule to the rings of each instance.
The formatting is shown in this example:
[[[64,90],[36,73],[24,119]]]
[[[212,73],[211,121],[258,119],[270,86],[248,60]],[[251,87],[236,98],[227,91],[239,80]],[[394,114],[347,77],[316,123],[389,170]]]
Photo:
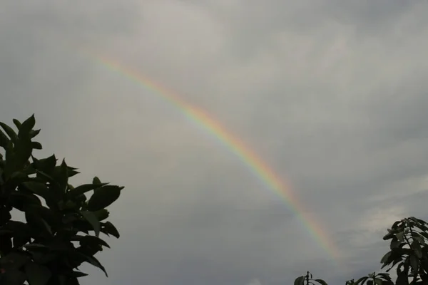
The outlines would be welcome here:
[[[357,281],[347,281],[346,285],[419,285],[428,284],[428,223],[422,219],[408,217],[392,224],[383,237],[391,240],[389,252],[384,254],[380,263],[385,272],[368,274]],[[395,269],[397,279],[392,281],[389,271]],[[322,279],[312,279],[307,271],[304,276],[295,279],[295,285],[327,285]]]

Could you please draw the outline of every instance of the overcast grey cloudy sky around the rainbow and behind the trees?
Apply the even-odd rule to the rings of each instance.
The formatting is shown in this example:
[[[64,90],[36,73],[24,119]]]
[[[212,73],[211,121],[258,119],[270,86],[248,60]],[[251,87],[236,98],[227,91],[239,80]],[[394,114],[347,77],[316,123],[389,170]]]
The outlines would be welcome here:
[[[36,116],[73,183],[125,190],[81,284],[344,284],[428,218],[428,2],[0,1],[0,121]],[[90,50],[91,53],[86,51]],[[245,142],[339,256],[152,78]],[[314,220],[314,221],[315,221]]]

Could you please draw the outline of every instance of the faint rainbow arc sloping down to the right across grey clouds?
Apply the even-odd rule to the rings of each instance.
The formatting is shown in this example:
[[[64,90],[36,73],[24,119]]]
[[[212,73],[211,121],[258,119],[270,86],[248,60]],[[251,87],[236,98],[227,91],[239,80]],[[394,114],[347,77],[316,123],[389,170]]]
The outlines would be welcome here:
[[[138,71],[124,66],[118,61],[115,61],[106,56],[101,56],[99,53],[85,50],[89,53],[92,59],[95,59],[98,63],[103,66],[115,71],[122,76],[135,81],[144,88],[151,90],[153,94],[156,94],[166,100],[171,105],[175,106],[177,110],[183,113],[189,120],[193,121],[197,125],[200,125],[203,129],[207,130],[208,133],[212,134],[215,138],[223,142],[228,149],[237,155],[245,165],[255,173],[262,182],[270,188],[270,190],[280,195],[285,200],[288,207],[297,216],[297,219],[304,225],[305,229],[310,232],[312,238],[317,244],[325,250],[327,254],[332,257],[333,261],[337,261],[340,257],[339,250],[332,243],[332,239],[327,234],[326,230],[320,225],[319,222],[311,217],[309,212],[305,210],[304,205],[299,201],[297,195],[292,192],[292,189],[285,182],[282,182],[280,177],[275,174],[269,165],[264,162],[253,150],[250,150],[241,140],[236,138],[232,133],[228,132],[223,125],[212,118],[205,110],[198,108],[194,105],[190,105],[185,102],[179,95],[168,90],[161,84],[156,83],[151,78],[143,76]]]

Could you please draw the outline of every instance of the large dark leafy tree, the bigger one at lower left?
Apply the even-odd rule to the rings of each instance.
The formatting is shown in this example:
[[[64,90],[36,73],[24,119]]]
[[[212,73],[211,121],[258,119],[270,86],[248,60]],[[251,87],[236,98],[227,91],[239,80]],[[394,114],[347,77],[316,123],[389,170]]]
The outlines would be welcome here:
[[[100,233],[119,238],[106,221],[106,207],[123,187],[98,177],[73,187],[69,178],[78,174],[76,168],[65,160],[57,165],[55,155],[33,156],[33,150],[42,148],[33,140],[40,133],[34,130],[34,115],[13,122],[18,133],[0,123],[0,284],[76,285],[87,275],[77,270],[83,262],[107,276],[94,255],[108,247]],[[88,192],[93,192],[90,199]],[[23,212],[25,221],[13,220],[12,209]]]

